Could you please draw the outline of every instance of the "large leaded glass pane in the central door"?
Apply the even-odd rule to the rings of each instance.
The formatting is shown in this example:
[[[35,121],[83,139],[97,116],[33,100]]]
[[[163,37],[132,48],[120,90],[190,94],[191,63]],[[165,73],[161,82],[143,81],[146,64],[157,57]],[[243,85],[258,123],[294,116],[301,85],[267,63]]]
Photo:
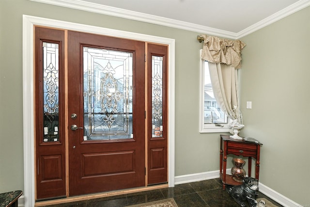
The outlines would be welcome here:
[[[133,138],[133,53],[83,48],[84,141]]]

